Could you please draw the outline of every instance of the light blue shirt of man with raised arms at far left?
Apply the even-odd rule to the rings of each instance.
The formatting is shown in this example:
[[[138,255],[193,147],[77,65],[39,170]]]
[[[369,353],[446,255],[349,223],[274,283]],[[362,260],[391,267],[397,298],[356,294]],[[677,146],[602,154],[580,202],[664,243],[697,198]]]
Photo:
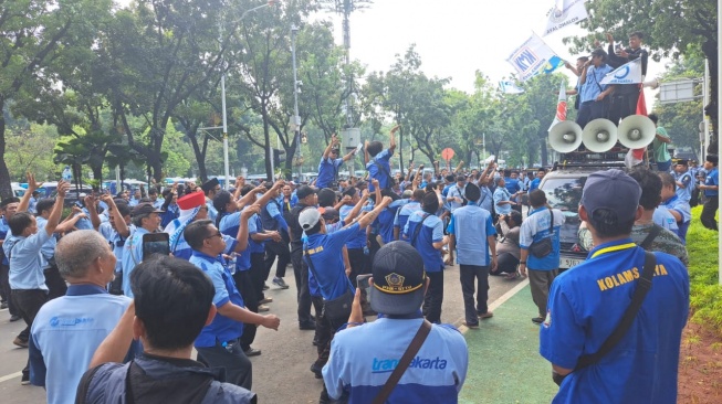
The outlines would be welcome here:
[[[42,289],[45,286],[43,267],[45,259],[41,248],[52,235],[44,230],[30,237],[11,236],[2,243],[6,256],[10,256],[10,288],[11,289]]]

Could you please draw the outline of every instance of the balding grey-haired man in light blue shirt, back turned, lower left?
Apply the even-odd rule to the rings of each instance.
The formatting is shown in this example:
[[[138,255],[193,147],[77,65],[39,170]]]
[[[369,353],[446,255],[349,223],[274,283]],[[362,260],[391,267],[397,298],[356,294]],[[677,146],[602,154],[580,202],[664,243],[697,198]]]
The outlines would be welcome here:
[[[45,387],[49,404],[75,401],[93,353],[132,302],[105,290],[115,276],[116,258],[100,233],[80,230],[64,236],[55,263],[70,284],[67,293],[40,309],[29,341],[30,382]]]

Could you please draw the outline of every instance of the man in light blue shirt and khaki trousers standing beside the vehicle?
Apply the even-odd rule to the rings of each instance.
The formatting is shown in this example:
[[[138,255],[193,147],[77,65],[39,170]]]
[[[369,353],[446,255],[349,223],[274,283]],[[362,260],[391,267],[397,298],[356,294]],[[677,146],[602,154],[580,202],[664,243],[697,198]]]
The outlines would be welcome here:
[[[532,211],[522,223],[520,231],[519,242],[522,251],[519,270],[526,276],[526,268],[529,268],[532,299],[538,308],[538,316],[532,318],[532,321],[541,325],[546,317],[550,287],[559,273],[559,231],[564,224],[564,215],[558,209],[547,206],[546,194],[542,190],[532,191],[529,194],[529,202]],[[545,244],[546,251],[538,248]]]

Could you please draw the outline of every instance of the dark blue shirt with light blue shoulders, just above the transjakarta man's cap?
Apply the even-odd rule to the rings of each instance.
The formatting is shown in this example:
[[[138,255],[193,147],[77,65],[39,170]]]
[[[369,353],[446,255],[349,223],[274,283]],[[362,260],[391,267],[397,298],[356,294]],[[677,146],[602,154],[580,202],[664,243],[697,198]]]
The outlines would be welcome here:
[[[425,217],[426,221],[423,220]],[[423,223],[421,223],[421,221],[423,221]],[[409,243],[414,242],[411,238],[414,237],[416,228],[420,224],[421,230],[418,233],[416,243],[414,243],[414,247],[416,247],[421,255],[421,259],[423,259],[423,268],[428,273],[441,272],[443,270],[441,252],[433,248],[432,244],[443,240],[443,223],[439,217],[423,211],[414,212],[404,227],[404,236]]]

